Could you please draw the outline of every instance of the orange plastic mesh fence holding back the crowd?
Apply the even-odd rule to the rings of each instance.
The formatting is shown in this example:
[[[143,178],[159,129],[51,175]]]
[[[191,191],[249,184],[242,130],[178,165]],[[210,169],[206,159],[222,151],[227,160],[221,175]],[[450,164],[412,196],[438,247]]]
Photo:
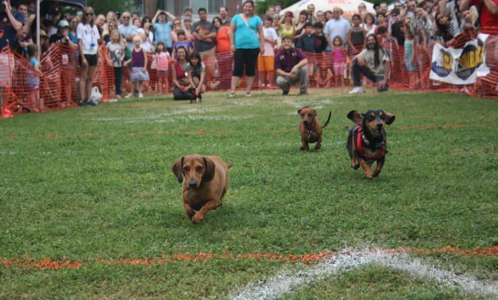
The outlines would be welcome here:
[[[491,72],[478,77],[475,83],[456,85],[429,79],[434,43],[428,47],[415,48],[414,63],[408,71],[403,46],[391,41],[382,45],[389,52],[391,60],[389,85],[403,90],[465,92],[474,97],[498,97],[498,28],[486,28],[479,32],[465,31],[453,40],[451,46],[462,48],[467,41],[476,38],[477,34],[483,31],[490,34],[486,40],[486,64]],[[340,69],[334,68],[334,58],[331,53],[305,53],[308,59],[310,87],[352,85],[351,58],[360,50],[353,52],[350,49],[345,54],[345,68],[344,71],[341,70],[341,74],[337,74]],[[0,117],[76,106],[80,100],[78,56],[76,48],[55,44],[42,55],[39,63],[41,73],[38,73],[28,60],[7,47],[4,48],[0,52]],[[150,76],[150,80],[144,84],[147,94],[156,94],[159,90],[154,56],[154,54],[147,55],[147,70]],[[216,53],[205,56],[202,60],[206,65],[207,90],[230,89],[233,54]],[[171,62],[169,68],[171,70]],[[277,88],[274,85],[275,77],[274,72],[258,72],[256,69],[253,88]],[[171,76],[168,76],[168,83],[169,88],[163,91],[163,94],[171,96],[173,89]],[[114,67],[104,46],[99,48],[99,62],[92,84],[102,93],[101,101],[109,101],[116,97]],[[244,76],[238,88],[245,86]],[[122,89],[124,92],[131,92],[129,68],[124,68]]]

